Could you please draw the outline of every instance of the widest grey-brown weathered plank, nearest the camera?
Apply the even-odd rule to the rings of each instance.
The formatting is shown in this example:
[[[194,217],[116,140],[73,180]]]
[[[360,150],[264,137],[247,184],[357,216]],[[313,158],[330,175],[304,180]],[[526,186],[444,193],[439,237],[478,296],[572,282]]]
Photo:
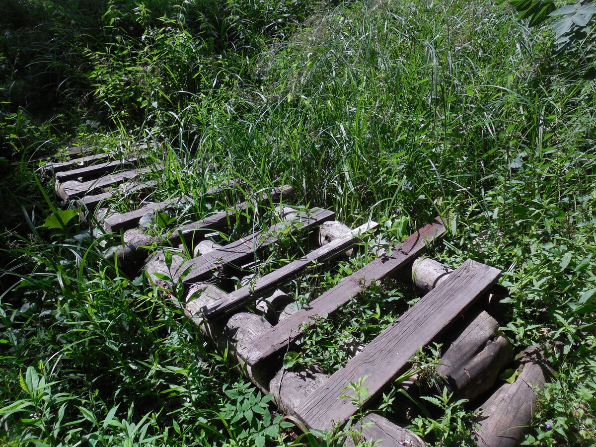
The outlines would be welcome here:
[[[488,290],[501,271],[473,260],[465,261],[448,279],[369,343],[341,370],[336,371],[296,409],[296,415],[311,429],[328,430],[333,423],[344,424],[358,411],[345,387],[350,381],[367,376],[365,386],[372,399],[391,381],[420,347],[431,342],[442,330]]]

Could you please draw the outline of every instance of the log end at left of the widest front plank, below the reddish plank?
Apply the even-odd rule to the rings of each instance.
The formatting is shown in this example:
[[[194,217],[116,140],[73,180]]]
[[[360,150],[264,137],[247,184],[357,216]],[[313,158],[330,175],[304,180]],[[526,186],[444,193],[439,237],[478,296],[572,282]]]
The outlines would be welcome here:
[[[281,368],[269,382],[269,391],[277,408],[285,414],[294,415],[294,409],[319,385],[327,380],[327,374],[318,365],[286,371]]]

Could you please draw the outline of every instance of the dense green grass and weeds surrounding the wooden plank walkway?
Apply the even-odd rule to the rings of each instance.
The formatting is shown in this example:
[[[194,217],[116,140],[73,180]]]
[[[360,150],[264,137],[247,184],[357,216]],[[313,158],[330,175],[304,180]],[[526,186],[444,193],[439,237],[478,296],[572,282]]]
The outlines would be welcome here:
[[[285,436],[291,423],[180,309],[105,259],[107,237],[72,238],[76,215],[67,228],[43,226],[58,210],[42,195],[38,159],[68,144],[146,142],[151,156],[167,154],[160,198],[196,197],[238,176],[253,190],[289,183],[293,203],[334,209],[352,226],[372,216],[392,241],[404,225],[408,234],[455,216],[433,256],[503,270],[511,315],[502,330],[518,349],[564,345],[551,353],[557,373],[526,444],[594,443],[592,51],[557,54],[548,32],[487,1],[6,4],[3,443],[315,443]],[[250,218],[221,237],[265,225]],[[361,315],[348,308],[340,332],[389,324],[376,317],[380,296],[372,291]],[[465,406],[442,402],[450,418],[421,416],[412,429],[430,444],[470,444]]]

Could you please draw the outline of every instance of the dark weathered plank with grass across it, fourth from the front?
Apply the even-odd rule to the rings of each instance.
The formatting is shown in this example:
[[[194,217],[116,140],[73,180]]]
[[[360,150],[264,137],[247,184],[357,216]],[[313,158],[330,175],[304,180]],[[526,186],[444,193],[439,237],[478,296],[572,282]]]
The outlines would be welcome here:
[[[265,233],[253,233],[246,238],[227,244],[219,250],[195,257],[182,266],[182,271],[188,270],[183,281],[185,284],[192,284],[204,280],[209,277],[215,265],[218,264],[239,264],[243,262],[248,257],[254,256],[255,252],[277,241],[277,232],[287,225],[296,224],[298,226],[295,228],[309,229],[315,225],[322,224],[322,222],[330,221],[334,215],[335,213],[333,211],[313,209],[310,215],[308,213],[300,213],[284,222],[272,225]]]

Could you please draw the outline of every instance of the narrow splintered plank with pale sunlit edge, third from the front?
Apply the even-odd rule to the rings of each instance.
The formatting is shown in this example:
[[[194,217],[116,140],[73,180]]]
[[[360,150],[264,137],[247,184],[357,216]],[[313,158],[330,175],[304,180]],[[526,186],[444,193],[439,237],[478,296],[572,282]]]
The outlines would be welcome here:
[[[338,254],[345,252],[358,241],[358,235],[361,232],[368,231],[368,229],[374,228],[375,226],[377,226],[376,222],[368,222],[367,224],[361,225],[348,232],[343,237],[313,250],[306,256],[287,263],[283,267],[263,277],[257,278],[254,284],[245,285],[228,294],[224,299],[210,303],[209,306],[203,308],[204,315],[206,318],[210,319],[220,318],[221,316],[240,309],[251,301],[265,296],[281,285],[297,278],[314,263],[325,262]]]

